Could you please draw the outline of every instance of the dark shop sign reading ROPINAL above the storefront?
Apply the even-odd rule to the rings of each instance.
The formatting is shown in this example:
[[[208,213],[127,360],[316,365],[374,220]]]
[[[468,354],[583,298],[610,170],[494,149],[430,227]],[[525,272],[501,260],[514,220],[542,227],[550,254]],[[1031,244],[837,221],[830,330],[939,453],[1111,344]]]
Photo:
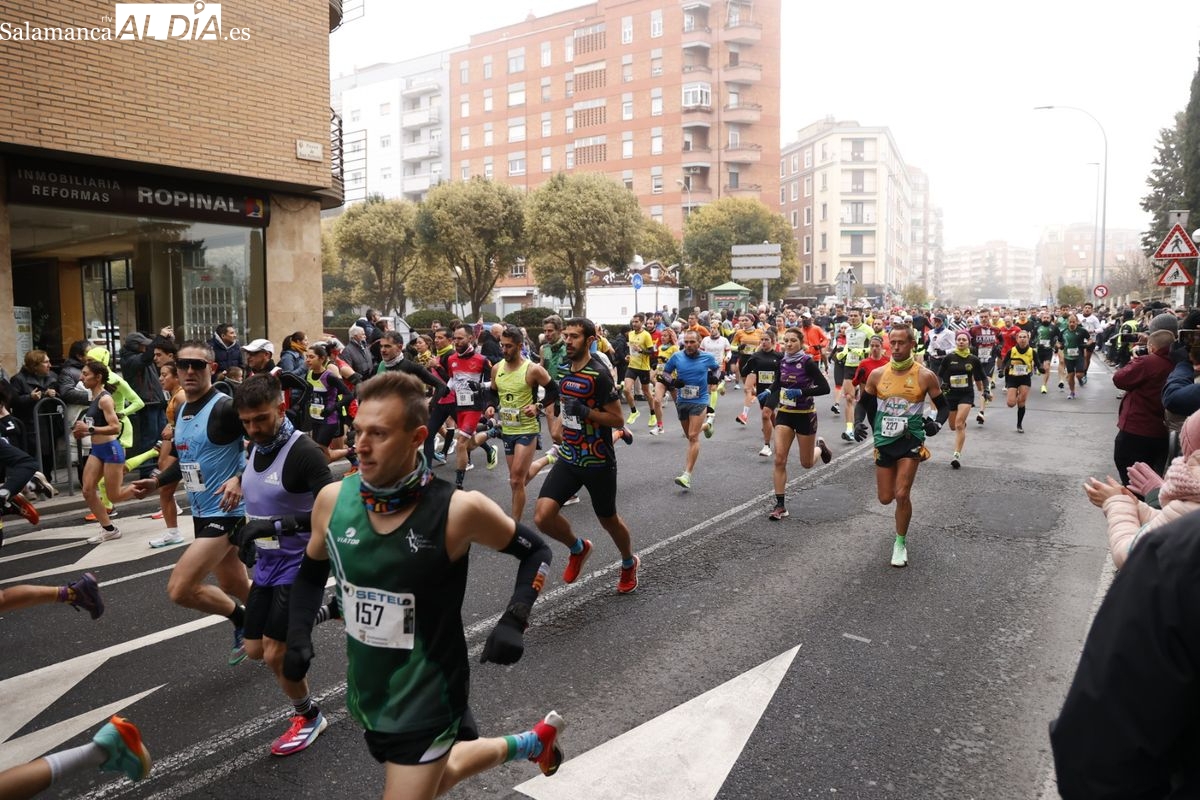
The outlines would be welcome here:
[[[266,227],[270,219],[270,201],[265,193],[158,175],[16,158],[8,162],[8,203],[256,228]]]

